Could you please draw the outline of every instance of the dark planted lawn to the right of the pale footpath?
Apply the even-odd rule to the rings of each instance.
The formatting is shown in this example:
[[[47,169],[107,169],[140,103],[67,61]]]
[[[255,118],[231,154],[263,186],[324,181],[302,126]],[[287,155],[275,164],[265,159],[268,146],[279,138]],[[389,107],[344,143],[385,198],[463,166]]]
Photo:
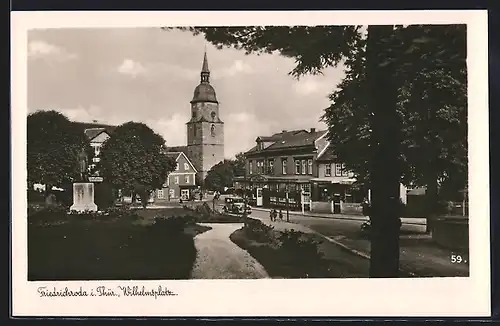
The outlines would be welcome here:
[[[260,222],[260,221],[259,221]],[[314,234],[277,231],[252,222],[230,239],[275,278],[368,277],[368,261]],[[260,224],[260,225],[259,225]]]

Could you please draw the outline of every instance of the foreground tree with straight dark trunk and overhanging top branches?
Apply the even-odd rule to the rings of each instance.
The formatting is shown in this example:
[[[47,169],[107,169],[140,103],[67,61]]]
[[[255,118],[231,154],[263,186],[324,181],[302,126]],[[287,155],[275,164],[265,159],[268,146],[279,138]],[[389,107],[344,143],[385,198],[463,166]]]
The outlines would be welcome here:
[[[404,121],[397,105],[401,86],[398,57],[420,40],[412,39],[410,48],[405,48],[408,43],[398,42],[394,26],[368,26],[366,38],[360,26],[194,27],[189,30],[203,33],[218,48],[234,47],[246,53],[279,52],[292,57],[296,67],[290,74],[297,78],[306,73],[321,73],[323,68],[336,66],[342,60],[356,61],[365,67],[366,82],[362,89],[369,101],[363,108],[366,115],[357,124],[366,124],[363,130],[353,132],[360,132],[362,136],[355,144],[368,150],[364,158],[353,162],[352,167],[357,164],[359,174],[370,180],[372,189],[370,276],[397,277],[399,183],[404,173],[404,161],[400,158]],[[407,64],[411,67],[412,62]],[[354,89],[356,87],[351,87],[352,94]],[[344,113],[355,114],[358,110],[352,105],[351,109],[352,113]],[[328,112],[326,115],[335,119]]]

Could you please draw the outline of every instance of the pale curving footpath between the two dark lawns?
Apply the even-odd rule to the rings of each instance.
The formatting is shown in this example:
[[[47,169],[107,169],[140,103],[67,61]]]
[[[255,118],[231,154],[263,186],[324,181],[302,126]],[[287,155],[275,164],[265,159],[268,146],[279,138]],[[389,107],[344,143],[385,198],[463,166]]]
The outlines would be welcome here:
[[[194,279],[267,278],[267,272],[248,252],[229,236],[243,224],[202,224],[212,228],[194,239],[198,251],[192,271]]]

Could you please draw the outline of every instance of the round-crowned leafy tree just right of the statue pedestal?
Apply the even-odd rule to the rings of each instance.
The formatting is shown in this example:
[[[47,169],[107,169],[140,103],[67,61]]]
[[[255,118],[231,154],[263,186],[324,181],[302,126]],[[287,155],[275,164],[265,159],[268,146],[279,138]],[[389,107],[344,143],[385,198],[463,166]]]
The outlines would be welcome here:
[[[155,189],[161,188],[175,160],[166,154],[165,141],[143,123],[118,126],[101,151],[100,169],[115,188],[139,195],[145,208]]]

